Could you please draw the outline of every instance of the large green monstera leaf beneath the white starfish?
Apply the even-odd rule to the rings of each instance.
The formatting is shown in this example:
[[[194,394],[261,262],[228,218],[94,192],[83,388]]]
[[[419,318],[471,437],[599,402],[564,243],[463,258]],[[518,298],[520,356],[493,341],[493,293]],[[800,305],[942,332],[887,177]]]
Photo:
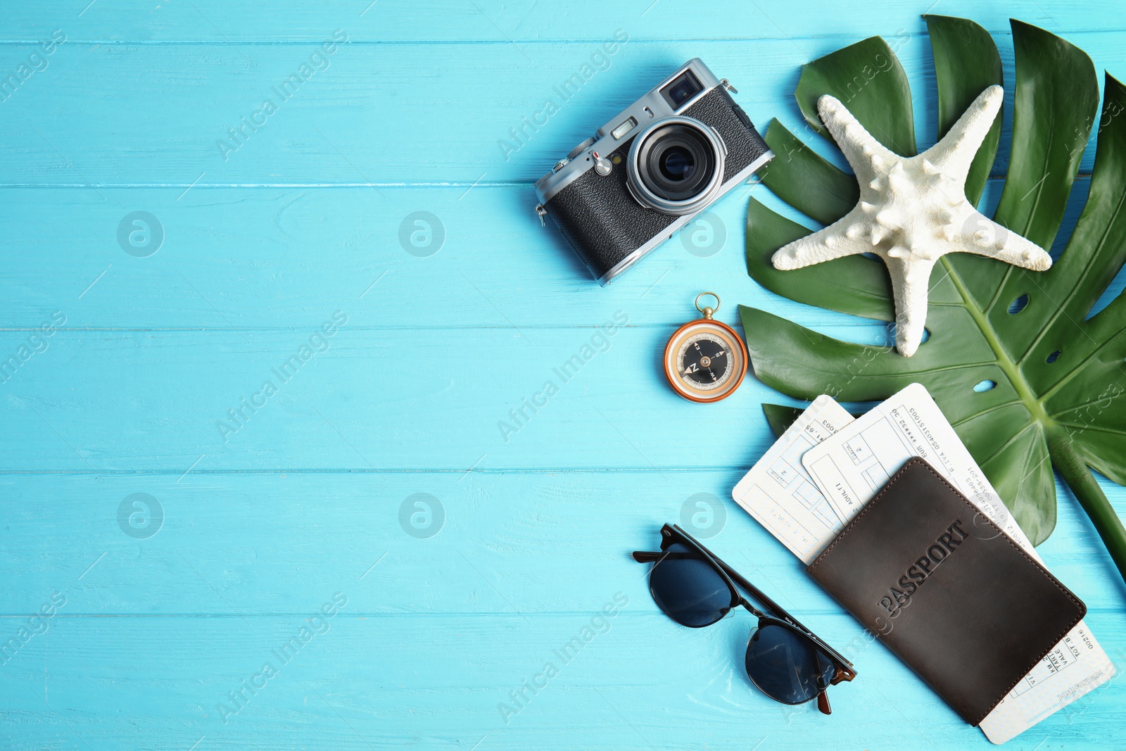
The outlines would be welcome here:
[[[942,135],[985,87],[1002,83],[1001,61],[976,24],[924,18]],[[923,384],[1036,544],[1055,526],[1055,466],[1126,571],[1126,531],[1090,472],[1126,484],[1126,294],[1090,315],[1126,261],[1126,88],[1107,77],[1099,118],[1099,82],[1085,53],[1016,20],[1012,35],[1012,150],[994,220],[1051,248],[1091,126],[1099,123],[1087,205],[1054,266],[1037,272],[967,253],[945,256],[930,280],[930,338],[911,358],[891,347],[839,341],[751,307],[741,309],[743,329],[758,377],[797,399],[828,393],[842,401],[883,400],[912,382]],[[915,153],[906,77],[879,37],[803,66],[796,98],[810,137],[830,137],[815,110],[823,93],[843,101],[893,151]],[[998,115],[966,182],[973,202],[989,179],[1001,119]],[[777,122],[767,141],[776,158],[762,181],[790,206],[824,224],[856,204],[851,173]],[[878,260],[854,256],[794,271],[771,266],[778,248],[808,232],[752,198],[751,277],[802,303],[893,321],[891,284]],[[765,409],[776,430],[793,419],[786,408]]]

